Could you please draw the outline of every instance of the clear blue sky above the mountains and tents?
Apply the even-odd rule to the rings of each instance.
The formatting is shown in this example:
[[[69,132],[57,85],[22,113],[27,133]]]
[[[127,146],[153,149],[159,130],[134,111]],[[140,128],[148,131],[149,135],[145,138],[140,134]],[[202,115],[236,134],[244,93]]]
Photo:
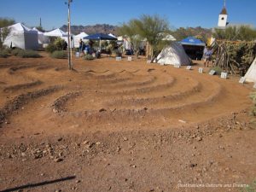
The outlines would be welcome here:
[[[44,29],[67,24],[66,0],[1,0],[0,17],[9,17],[26,26],[38,26],[42,18]],[[72,25],[111,24],[138,18],[140,15],[160,15],[172,27],[217,26],[224,0],[73,0]],[[256,26],[256,0],[227,0],[228,21]]]

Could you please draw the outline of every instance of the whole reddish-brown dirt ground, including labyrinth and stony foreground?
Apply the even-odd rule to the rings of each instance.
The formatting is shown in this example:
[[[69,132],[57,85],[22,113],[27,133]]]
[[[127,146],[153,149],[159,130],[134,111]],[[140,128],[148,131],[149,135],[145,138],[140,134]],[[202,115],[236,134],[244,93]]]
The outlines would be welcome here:
[[[143,58],[0,59],[0,191],[241,191],[252,84]]]

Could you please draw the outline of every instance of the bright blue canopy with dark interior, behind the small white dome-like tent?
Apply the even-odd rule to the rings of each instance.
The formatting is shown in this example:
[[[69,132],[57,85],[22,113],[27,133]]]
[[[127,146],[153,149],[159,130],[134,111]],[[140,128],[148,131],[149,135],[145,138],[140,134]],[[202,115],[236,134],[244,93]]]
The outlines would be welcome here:
[[[183,48],[190,59],[201,60],[203,50],[206,46],[204,42],[194,37],[188,37],[184,38],[180,43],[183,45]]]

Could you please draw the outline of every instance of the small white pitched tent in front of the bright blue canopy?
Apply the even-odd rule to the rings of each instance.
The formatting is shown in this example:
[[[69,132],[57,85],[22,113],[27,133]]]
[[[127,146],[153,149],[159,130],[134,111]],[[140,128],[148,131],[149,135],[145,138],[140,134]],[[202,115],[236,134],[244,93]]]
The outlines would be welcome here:
[[[183,46],[177,42],[172,42],[168,47],[162,49],[156,61],[166,65],[188,66],[191,64]]]

